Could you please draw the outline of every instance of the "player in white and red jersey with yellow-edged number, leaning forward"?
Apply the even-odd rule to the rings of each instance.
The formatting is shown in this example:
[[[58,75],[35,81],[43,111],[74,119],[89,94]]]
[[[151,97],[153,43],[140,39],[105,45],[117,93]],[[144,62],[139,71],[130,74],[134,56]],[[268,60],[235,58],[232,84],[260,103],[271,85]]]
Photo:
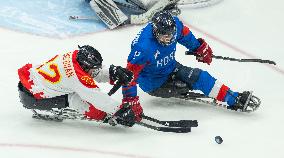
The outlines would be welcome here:
[[[18,69],[20,101],[27,109],[48,111],[68,107],[88,119],[133,126],[141,120],[143,111],[137,99],[128,98],[128,102],[124,100],[119,106],[97,84],[116,80],[127,84],[133,74],[121,66],[107,68],[102,61],[95,48],[85,45],[74,52],[56,55],[42,65],[26,64]]]

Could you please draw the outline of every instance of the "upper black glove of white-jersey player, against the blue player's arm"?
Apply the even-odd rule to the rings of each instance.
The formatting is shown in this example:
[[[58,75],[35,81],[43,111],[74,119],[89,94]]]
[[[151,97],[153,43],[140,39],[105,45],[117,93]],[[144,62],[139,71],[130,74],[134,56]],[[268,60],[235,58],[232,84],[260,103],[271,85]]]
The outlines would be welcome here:
[[[122,85],[128,85],[133,79],[133,73],[121,66],[110,65],[109,67],[110,80],[115,82],[119,81]]]

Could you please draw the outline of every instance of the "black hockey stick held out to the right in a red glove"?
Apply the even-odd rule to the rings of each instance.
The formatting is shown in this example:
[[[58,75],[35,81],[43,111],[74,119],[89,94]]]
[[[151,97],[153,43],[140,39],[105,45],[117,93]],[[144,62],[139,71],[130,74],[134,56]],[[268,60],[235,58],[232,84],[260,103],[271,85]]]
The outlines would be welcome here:
[[[192,52],[189,52],[189,51],[186,51],[185,55],[194,55],[194,56],[196,56],[195,54],[192,54]],[[237,59],[237,58],[223,57],[223,56],[216,56],[216,55],[212,55],[212,58],[222,59],[222,60],[229,60],[229,61],[238,61],[238,62],[258,62],[258,63],[267,63],[267,64],[276,65],[276,63],[274,61],[263,60],[263,59]]]

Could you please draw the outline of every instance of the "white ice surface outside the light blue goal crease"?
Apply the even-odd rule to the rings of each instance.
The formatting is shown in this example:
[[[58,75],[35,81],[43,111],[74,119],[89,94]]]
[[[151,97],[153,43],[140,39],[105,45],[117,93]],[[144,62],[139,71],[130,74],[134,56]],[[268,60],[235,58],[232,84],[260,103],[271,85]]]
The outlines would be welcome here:
[[[224,0],[201,9],[182,9],[180,18],[204,38],[215,55],[274,60],[277,65],[213,59],[210,66],[185,56],[182,64],[210,72],[233,90],[252,90],[262,100],[253,113],[239,113],[178,99],[154,98],[139,90],[144,113],[161,120],[196,119],[191,133],[163,133],[140,126],[111,127],[96,122],[32,119],[17,92],[17,69],[41,63],[77,45],[96,47],[104,64],[125,65],[130,43],[143,26],[56,39],[0,28],[1,158],[283,158],[284,2]],[[111,87],[100,85],[107,92]],[[112,96],[120,101],[118,91]],[[216,144],[220,135],[224,142]]]

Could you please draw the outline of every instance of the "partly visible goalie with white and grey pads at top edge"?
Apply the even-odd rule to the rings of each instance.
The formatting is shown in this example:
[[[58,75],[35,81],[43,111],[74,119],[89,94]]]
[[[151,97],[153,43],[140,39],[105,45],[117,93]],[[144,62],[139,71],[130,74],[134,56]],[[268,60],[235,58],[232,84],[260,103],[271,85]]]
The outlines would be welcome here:
[[[110,28],[123,24],[145,24],[161,10],[180,14],[179,0],[86,0],[98,17]]]

